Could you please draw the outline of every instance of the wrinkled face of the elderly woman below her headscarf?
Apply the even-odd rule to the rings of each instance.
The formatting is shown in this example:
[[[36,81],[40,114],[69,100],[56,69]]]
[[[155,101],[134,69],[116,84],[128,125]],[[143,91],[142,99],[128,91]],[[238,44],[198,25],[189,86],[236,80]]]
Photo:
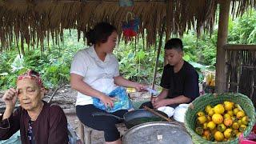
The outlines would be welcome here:
[[[33,78],[23,78],[17,82],[18,100],[23,109],[36,110],[42,102],[44,89]]]

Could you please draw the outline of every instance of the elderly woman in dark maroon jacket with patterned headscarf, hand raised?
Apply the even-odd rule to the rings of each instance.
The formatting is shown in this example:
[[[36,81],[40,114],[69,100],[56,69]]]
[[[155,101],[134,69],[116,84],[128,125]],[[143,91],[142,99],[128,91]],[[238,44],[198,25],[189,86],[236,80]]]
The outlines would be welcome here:
[[[18,76],[17,89],[6,90],[2,97],[6,110],[0,117],[0,140],[20,130],[22,143],[68,142],[66,116],[61,107],[42,101],[44,94],[38,73],[29,70]],[[14,110],[17,98],[21,106]]]

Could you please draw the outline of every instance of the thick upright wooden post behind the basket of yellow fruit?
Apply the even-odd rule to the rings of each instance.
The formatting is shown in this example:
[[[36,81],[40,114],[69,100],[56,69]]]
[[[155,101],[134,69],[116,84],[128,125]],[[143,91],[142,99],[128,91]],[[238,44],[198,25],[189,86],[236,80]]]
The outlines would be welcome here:
[[[216,92],[226,91],[226,50],[223,46],[227,42],[228,23],[230,14],[230,0],[220,1],[219,21],[218,21],[218,41],[216,59]]]

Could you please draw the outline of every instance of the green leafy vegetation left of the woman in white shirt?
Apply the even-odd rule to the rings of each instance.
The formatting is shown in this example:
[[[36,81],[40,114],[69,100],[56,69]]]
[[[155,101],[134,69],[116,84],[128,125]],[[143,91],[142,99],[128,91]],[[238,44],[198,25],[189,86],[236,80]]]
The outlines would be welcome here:
[[[54,88],[61,83],[70,81],[70,64],[74,54],[84,48],[83,42],[77,42],[76,31],[66,30],[65,42],[60,46],[50,44],[43,55],[39,49],[26,51],[21,58],[17,50],[11,50],[0,56],[0,87],[2,90],[15,86],[18,74],[28,69],[38,71],[42,75],[44,84]],[[49,51],[50,50],[50,51]],[[17,59],[16,61],[14,59]]]

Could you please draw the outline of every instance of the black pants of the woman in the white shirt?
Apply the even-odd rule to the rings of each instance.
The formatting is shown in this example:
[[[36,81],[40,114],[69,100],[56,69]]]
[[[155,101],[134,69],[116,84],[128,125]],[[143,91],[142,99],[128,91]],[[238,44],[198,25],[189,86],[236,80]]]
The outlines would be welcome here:
[[[114,114],[120,118],[123,118],[123,114],[126,114],[128,110],[118,110]],[[86,126],[93,128],[94,130],[104,131],[104,137],[106,142],[114,142],[120,138],[120,133],[115,126],[119,123],[117,118],[109,116],[97,116],[93,117],[94,113],[107,113],[105,110],[100,110],[94,105],[76,106],[76,113],[79,120]]]

